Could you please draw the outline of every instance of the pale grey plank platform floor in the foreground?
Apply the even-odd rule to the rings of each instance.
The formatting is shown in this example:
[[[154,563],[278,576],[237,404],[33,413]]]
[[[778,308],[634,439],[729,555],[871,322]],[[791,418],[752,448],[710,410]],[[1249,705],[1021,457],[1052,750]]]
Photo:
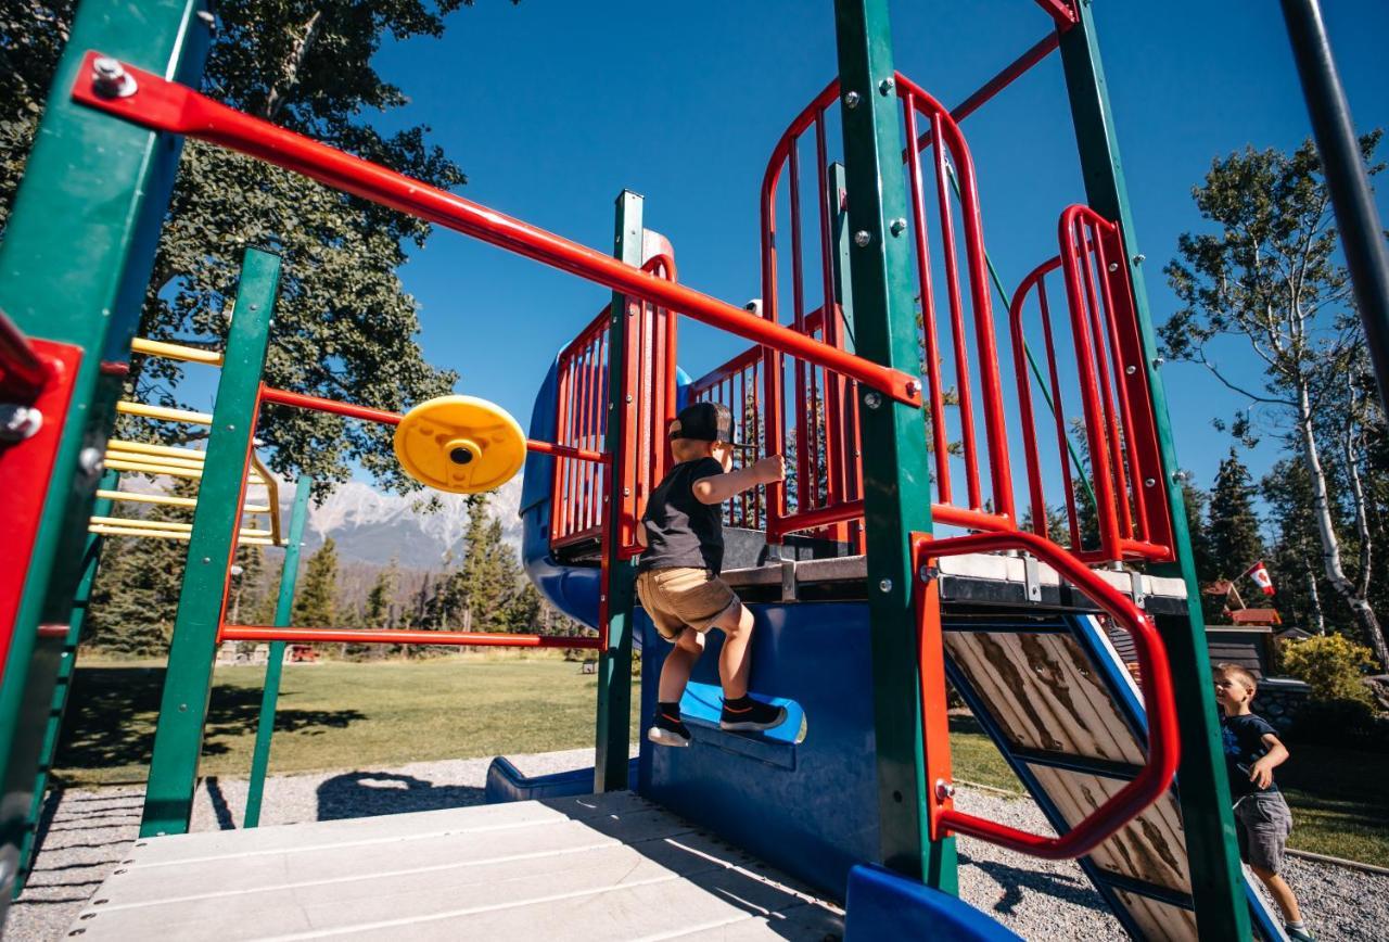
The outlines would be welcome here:
[[[843,914],[631,793],[136,841],[99,939],[824,939]]]

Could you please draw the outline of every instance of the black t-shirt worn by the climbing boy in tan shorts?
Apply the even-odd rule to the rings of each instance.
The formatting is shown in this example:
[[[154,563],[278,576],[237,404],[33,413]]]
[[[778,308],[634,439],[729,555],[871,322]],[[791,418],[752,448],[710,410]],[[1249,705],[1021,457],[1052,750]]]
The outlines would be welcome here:
[[[722,514],[718,504],[701,503],[692,490],[696,481],[715,474],[724,474],[724,465],[714,458],[682,461],[656,485],[642,514],[642,572],[690,565],[718,575],[724,565]]]

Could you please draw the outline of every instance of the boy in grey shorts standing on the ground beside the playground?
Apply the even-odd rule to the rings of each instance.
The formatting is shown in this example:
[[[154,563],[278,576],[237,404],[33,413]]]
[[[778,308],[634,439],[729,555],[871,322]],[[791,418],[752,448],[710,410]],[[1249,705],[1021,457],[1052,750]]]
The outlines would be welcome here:
[[[1215,703],[1221,709],[1221,738],[1225,743],[1231,798],[1235,799],[1239,856],[1282,910],[1288,938],[1293,942],[1314,942],[1303,923],[1292,886],[1278,873],[1288,835],[1293,829],[1293,816],[1282,792],[1274,785],[1274,768],[1288,761],[1288,746],[1267,720],[1250,710],[1249,704],[1257,689],[1254,675],[1243,667],[1217,664]]]

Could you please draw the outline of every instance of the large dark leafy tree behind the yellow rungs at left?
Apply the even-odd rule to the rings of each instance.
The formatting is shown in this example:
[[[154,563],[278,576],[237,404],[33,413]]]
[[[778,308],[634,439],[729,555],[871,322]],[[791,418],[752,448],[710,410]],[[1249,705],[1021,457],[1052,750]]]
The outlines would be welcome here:
[[[244,0],[222,4],[203,90],[335,147],[443,189],[465,182],[428,143],[429,128],[392,111],[406,93],[372,60],[383,40],[443,33],[464,0]],[[0,0],[0,235],[43,110],[74,4]],[[389,126],[389,131],[385,128]],[[265,381],[274,386],[399,410],[451,389],[414,339],[414,299],[397,276],[431,226],[306,178],[218,147],[188,142],[146,293],[142,332],[219,345],[246,246],[283,260]],[[133,393],[178,404],[182,367],[132,364]],[[142,438],[186,436],[128,422]],[[388,486],[413,486],[392,454],[390,431],[369,422],[272,407],[260,436],[271,464],[315,478],[322,493],[351,463]]]

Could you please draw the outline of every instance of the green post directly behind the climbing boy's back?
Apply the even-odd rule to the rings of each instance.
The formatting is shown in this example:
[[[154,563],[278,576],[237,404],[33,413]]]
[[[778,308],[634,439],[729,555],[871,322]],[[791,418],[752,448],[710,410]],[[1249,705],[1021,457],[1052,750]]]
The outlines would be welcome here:
[[[629,265],[642,264],[642,197],[622,190],[617,197],[614,254]],[[618,559],[622,547],[622,481],[636,456],[626,447],[631,396],[626,383],[626,336],[640,301],[613,293],[608,321],[608,421],[604,450],[607,465],[603,502],[604,578],[600,611],[607,618],[608,643],[599,653],[597,754],[593,761],[593,791],[619,792],[628,786],[628,753],[632,749],[632,592],[636,568]]]

